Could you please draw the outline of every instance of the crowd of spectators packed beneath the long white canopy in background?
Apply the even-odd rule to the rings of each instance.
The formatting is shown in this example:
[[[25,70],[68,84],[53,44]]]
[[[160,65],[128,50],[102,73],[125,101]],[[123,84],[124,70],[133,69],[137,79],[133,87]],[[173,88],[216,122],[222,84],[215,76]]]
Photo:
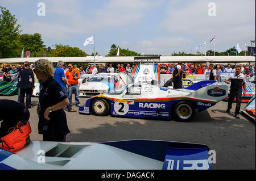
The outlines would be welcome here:
[[[160,66],[160,73],[161,74],[172,74],[174,71],[174,68],[177,64],[159,64]],[[216,70],[216,73],[234,73],[236,70],[235,64],[216,64],[213,66],[213,69]],[[241,65],[241,72],[243,74],[246,73],[255,73],[255,65]],[[34,64],[30,64],[30,69],[33,69],[35,67]],[[56,68],[57,65],[54,66]],[[118,64],[115,67],[112,64],[109,64],[108,66],[105,64],[88,64],[85,68],[83,66],[77,66],[74,65],[74,69],[78,70],[80,75],[82,74],[98,74],[98,73],[132,73],[134,70],[135,64],[130,65],[127,64],[124,66],[123,64]],[[15,76],[17,72],[20,72],[24,68],[24,64],[18,65],[16,67],[15,65],[3,65],[0,68],[0,71],[3,71],[3,79],[4,81],[10,81],[11,77]],[[61,66],[63,70],[66,72],[69,70],[67,64],[63,64]],[[10,70],[12,71],[12,74],[8,74]],[[207,74],[209,75],[210,69],[207,64],[183,64],[181,66],[182,73],[189,74]]]

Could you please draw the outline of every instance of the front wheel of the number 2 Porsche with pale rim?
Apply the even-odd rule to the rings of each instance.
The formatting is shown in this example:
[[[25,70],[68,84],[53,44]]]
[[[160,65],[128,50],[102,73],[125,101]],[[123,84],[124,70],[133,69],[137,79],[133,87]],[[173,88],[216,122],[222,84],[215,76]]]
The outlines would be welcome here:
[[[105,99],[94,99],[91,106],[92,112],[96,116],[107,116],[110,113],[109,103]]]

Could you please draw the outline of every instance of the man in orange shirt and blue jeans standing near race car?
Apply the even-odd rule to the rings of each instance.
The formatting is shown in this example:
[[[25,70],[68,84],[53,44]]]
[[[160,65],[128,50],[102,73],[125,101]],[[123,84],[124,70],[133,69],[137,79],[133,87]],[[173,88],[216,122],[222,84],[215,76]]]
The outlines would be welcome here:
[[[80,73],[79,70],[74,69],[74,66],[72,64],[68,64],[68,69],[65,73],[65,76],[67,78],[67,85],[68,85],[68,99],[69,99],[69,105],[67,106],[68,112],[76,112],[76,110],[72,109],[72,94],[75,93],[75,102],[76,106],[80,107],[79,102],[79,81]]]

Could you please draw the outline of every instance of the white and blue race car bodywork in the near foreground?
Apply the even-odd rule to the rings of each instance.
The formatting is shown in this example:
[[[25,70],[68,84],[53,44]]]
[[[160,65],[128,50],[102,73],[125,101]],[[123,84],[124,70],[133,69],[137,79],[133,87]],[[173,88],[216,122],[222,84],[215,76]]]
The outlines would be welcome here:
[[[0,148],[0,170],[208,170],[208,151],[203,144],[155,140],[31,141],[15,153]]]

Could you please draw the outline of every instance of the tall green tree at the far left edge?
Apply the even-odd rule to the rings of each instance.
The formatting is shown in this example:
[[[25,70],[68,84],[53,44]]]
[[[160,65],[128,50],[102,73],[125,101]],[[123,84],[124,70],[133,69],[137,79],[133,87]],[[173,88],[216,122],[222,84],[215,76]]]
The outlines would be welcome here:
[[[0,9],[0,57],[17,57],[20,48],[18,40],[21,32],[20,24],[16,24],[15,15],[11,15],[5,7],[0,6]]]

